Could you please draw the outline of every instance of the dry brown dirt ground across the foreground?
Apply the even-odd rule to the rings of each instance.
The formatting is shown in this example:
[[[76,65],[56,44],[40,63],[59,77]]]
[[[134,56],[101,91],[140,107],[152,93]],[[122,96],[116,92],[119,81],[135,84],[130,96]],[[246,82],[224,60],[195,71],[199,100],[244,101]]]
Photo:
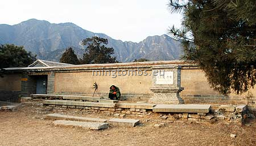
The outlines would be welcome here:
[[[0,145],[256,145],[256,120],[245,126],[228,123],[191,123],[159,118],[158,114],[131,116],[142,124],[133,128],[110,127],[88,130],[56,127],[43,114],[34,114],[36,106],[22,106],[16,111],[0,111]],[[49,112],[49,113],[53,113]],[[108,113],[69,110],[69,115],[114,118]],[[147,121],[147,122],[146,122]],[[166,123],[154,128],[155,123]],[[237,137],[230,137],[236,134]]]

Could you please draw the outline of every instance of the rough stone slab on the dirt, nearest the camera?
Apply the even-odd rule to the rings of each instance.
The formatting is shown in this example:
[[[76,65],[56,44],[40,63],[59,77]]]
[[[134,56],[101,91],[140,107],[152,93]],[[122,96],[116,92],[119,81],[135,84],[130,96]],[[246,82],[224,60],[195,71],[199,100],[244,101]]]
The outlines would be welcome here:
[[[80,122],[73,120],[55,120],[53,122],[55,126],[74,126],[89,128],[90,130],[103,130],[109,127],[109,123],[99,123],[99,122]]]

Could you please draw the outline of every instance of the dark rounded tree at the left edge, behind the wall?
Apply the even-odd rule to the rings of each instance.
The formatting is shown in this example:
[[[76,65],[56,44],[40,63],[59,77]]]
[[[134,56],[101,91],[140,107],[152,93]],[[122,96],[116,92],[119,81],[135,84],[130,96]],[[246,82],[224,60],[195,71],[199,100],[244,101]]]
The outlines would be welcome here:
[[[22,46],[14,44],[0,45],[0,68],[25,67],[36,60],[36,56]]]

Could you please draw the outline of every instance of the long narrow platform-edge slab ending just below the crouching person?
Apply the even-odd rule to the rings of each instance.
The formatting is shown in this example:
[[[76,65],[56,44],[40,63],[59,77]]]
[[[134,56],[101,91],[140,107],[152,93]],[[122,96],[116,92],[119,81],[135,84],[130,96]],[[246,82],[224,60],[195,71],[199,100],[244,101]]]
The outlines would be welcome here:
[[[46,100],[44,105],[66,105],[66,106],[89,106],[89,107],[109,107],[114,108],[116,103],[99,103],[99,102],[80,102],[80,101],[64,101],[64,100]]]

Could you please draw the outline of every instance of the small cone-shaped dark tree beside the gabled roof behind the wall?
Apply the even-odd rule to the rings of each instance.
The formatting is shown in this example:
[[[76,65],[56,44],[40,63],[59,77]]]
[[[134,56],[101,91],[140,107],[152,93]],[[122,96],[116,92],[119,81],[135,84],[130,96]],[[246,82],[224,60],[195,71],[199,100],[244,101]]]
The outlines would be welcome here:
[[[77,58],[75,52],[71,47],[67,48],[60,58],[60,62],[66,64],[79,64],[79,59]]]

